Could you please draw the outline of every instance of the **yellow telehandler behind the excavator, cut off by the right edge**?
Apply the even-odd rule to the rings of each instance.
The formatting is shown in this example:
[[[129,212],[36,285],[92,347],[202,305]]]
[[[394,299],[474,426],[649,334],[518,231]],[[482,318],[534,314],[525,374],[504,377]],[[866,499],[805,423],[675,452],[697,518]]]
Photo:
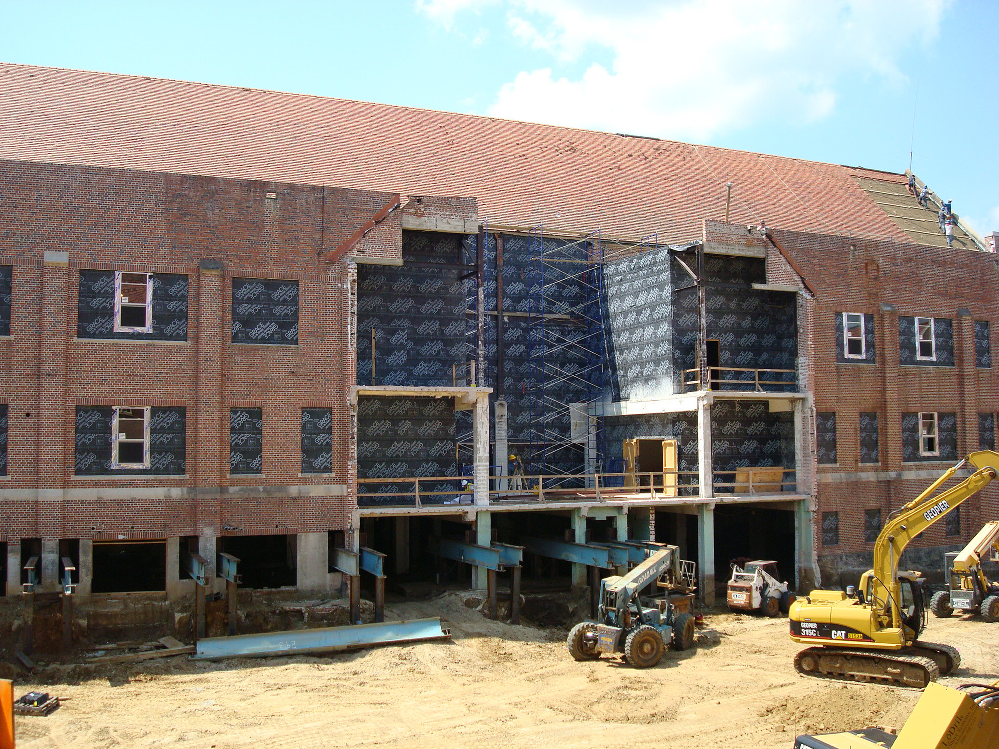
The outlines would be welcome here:
[[[944,554],[947,565],[947,589],[930,598],[930,611],[941,618],[954,609],[981,614],[986,621],[999,621],[999,583],[989,580],[982,571],[982,557],[989,549],[999,552],[999,520],[982,526],[960,551]]]

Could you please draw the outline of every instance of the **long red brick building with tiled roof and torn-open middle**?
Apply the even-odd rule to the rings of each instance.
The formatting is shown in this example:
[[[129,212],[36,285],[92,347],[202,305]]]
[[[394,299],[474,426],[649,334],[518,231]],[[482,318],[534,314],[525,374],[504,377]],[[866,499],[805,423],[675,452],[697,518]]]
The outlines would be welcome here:
[[[729,559],[764,553],[802,587],[819,570],[841,584],[866,568],[892,508],[992,444],[996,256],[960,222],[948,248],[902,175],[0,70],[8,595],[36,555],[42,589],[57,589],[68,555],[81,594],[176,600],[194,550],[239,556],[252,587],[330,592],[330,544],[363,540],[406,575],[428,537],[488,545],[528,530],[676,542],[708,597]],[[550,252],[607,284],[594,335],[615,359],[581,390],[537,375],[588,371],[584,356],[552,364],[550,348],[530,349],[538,331],[550,341],[590,315],[565,306],[585,281],[531,307]],[[688,261],[703,267],[687,266],[684,286]],[[694,287],[700,302],[682,296]],[[659,338],[641,339],[648,321]],[[534,428],[551,419],[531,392],[558,403],[550,434]],[[570,428],[571,413],[589,426]],[[517,452],[555,454],[536,472],[589,475],[589,488],[594,473],[651,470],[662,490],[623,490],[640,486],[631,477],[607,496],[510,498],[500,476]],[[414,500],[413,478],[435,475],[438,490]],[[752,475],[771,477],[761,489]],[[933,571],[997,510],[991,489],[970,500],[912,563]]]

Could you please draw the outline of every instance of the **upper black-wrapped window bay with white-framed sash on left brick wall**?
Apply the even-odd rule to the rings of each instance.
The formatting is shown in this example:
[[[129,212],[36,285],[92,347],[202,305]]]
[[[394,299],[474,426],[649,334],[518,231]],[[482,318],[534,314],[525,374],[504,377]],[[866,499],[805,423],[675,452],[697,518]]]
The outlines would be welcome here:
[[[77,312],[81,339],[187,341],[188,277],[81,270]]]

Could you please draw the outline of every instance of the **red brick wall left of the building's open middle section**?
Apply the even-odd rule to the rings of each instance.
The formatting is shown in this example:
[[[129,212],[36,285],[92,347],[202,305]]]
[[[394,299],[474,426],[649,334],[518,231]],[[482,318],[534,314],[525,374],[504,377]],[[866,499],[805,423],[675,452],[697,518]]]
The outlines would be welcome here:
[[[346,528],[355,494],[354,268],[328,257],[392,198],[0,162],[0,265],[14,267],[11,336],[0,338],[0,402],[10,410],[0,539]],[[357,249],[399,257],[401,236],[396,211]],[[187,275],[187,341],[78,339],[82,269]],[[299,282],[297,345],[231,342],[238,277]],[[75,476],[80,404],[186,407],[187,475]],[[263,409],[263,475],[228,474],[237,406]],[[302,475],[303,407],[333,410],[329,475]]]

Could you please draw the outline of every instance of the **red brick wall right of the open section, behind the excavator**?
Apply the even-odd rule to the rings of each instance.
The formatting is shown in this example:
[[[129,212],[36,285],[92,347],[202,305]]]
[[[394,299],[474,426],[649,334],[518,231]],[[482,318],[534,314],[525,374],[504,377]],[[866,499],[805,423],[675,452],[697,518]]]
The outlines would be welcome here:
[[[958,454],[964,455],[978,449],[977,414],[999,411],[994,368],[975,367],[973,334],[973,321],[988,321],[990,330],[995,330],[999,258],[958,248],[773,234],[815,290],[811,323],[815,408],[836,413],[837,464],[818,466],[816,522],[822,511],[838,511],[839,544],[823,547],[816,524],[819,560],[827,571],[837,568],[837,558],[840,567],[866,568],[873,544],[864,541],[864,509],[880,508],[881,517],[887,517],[950,464],[903,463],[902,413],[956,413]],[[874,364],[836,362],[834,316],[842,312],[873,316]],[[952,320],[954,367],[901,366],[899,316]],[[876,465],[859,463],[858,421],[864,411],[878,413]],[[913,475],[915,471],[925,472]],[[914,540],[906,554],[927,563],[939,555],[937,562],[942,565],[944,547],[965,543],[981,523],[997,516],[999,489],[989,486],[962,505],[960,536],[945,535],[944,522],[938,522]]]

